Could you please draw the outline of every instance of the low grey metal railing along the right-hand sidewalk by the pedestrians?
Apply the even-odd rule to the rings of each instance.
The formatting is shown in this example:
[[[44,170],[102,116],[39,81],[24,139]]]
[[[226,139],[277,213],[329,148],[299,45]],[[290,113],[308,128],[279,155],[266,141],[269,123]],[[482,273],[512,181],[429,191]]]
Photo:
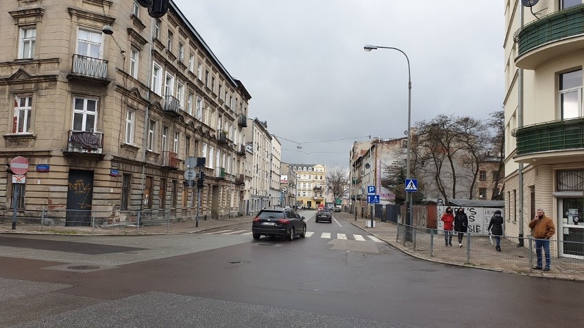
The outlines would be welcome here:
[[[513,268],[516,272],[532,273],[537,265],[535,238],[500,238],[502,251],[496,251],[496,238],[483,234],[464,233],[459,243],[459,236],[453,231],[452,246],[445,240],[443,230],[411,227],[397,223],[396,242],[413,249],[419,255],[433,257],[457,264],[476,267]],[[492,240],[492,244],[491,244]],[[561,273],[584,273],[584,242],[565,242],[549,240],[551,268]],[[522,246],[519,246],[522,244]],[[554,256],[563,252],[563,257]],[[543,266],[546,258],[542,250]]]

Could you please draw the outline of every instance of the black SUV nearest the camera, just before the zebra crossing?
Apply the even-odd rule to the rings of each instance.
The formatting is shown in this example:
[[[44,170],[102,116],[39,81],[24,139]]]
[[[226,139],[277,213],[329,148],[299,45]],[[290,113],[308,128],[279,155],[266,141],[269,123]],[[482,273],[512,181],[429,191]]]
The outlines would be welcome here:
[[[295,236],[306,236],[306,222],[291,208],[269,207],[261,210],[252,223],[252,236],[285,236],[293,240]]]

